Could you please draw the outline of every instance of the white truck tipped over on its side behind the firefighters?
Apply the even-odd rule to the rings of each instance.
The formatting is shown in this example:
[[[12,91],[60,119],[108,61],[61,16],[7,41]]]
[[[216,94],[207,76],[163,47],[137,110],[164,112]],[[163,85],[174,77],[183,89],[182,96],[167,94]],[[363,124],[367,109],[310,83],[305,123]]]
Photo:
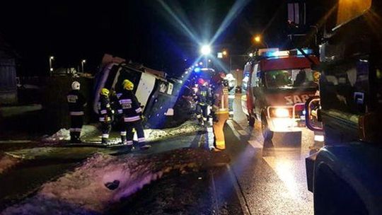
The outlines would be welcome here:
[[[96,75],[94,87],[93,110],[98,112],[97,104],[101,88],[116,92],[122,91],[122,81],[129,79],[134,83],[133,92],[143,106],[145,127],[161,129],[175,127],[185,122],[174,107],[182,87],[178,79],[168,78],[165,72],[148,67],[127,63],[125,59],[105,54],[100,71]]]

